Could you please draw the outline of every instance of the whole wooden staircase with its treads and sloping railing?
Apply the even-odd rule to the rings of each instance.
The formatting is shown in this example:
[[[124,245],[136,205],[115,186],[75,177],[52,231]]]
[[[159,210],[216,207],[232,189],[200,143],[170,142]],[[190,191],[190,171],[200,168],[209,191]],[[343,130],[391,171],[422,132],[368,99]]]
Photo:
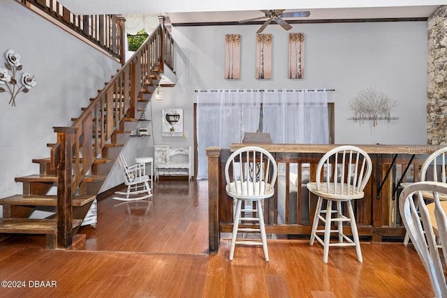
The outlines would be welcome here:
[[[163,42],[163,40],[165,40]],[[22,194],[1,198],[0,233],[45,234],[47,248],[68,248],[163,73],[164,49],[173,43],[163,23],[98,90],[69,127],[54,127],[50,157],[33,159],[39,174],[16,177]],[[172,61],[172,60],[170,60]],[[57,195],[51,195],[52,188]],[[54,191],[54,189],[53,189]],[[47,218],[29,218],[52,208]]]

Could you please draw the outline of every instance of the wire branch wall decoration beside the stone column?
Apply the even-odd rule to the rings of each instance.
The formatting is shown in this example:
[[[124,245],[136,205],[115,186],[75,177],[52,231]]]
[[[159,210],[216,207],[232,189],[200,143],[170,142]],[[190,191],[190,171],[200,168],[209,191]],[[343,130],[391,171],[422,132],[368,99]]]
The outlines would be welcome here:
[[[373,126],[377,125],[377,120],[397,120],[391,117],[391,111],[396,107],[396,101],[391,101],[386,94],[378,93],[374,89],[363,89],[349,103],[349,107],[354,112],[354,117],[349,120],[362,121],[372,120]]]

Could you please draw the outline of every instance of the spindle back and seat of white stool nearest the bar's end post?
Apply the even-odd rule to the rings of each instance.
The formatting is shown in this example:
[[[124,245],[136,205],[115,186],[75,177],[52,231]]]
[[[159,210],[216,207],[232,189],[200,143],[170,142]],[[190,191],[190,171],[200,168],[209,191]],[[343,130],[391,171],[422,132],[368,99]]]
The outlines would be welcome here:
[[[277,174],[277,163],[270,152],[261,147],[243,147],[226,162],[226,191],[237,198],[270,198]]]

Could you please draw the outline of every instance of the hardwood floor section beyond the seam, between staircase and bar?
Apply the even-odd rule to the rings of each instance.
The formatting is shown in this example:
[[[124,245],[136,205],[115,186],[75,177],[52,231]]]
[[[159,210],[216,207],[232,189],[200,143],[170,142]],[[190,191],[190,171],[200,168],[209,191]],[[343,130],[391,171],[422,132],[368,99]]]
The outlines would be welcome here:
[[[160,181],[153,202],[98,202],[96,229],[85,229],[89,251],[206,253],[206,181]]]

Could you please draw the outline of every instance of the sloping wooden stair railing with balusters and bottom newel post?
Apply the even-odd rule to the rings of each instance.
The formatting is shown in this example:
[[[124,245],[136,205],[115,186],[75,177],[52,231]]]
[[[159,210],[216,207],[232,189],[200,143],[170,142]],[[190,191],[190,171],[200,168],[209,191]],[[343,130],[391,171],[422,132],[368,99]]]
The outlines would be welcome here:
[[[161,73],[163,27],[160,25],[101,90],[71,127],[54,127],[60,152],[54,152],[52,165],[58,176],[58,247],[71,245],[71,202],[73,193],[101,156],[105,144],[121,126],[124,117],[135,118],[140,91]],[[155,80],[159,80],[156,77]],[[59,162],[57,162],[59,161]]]

